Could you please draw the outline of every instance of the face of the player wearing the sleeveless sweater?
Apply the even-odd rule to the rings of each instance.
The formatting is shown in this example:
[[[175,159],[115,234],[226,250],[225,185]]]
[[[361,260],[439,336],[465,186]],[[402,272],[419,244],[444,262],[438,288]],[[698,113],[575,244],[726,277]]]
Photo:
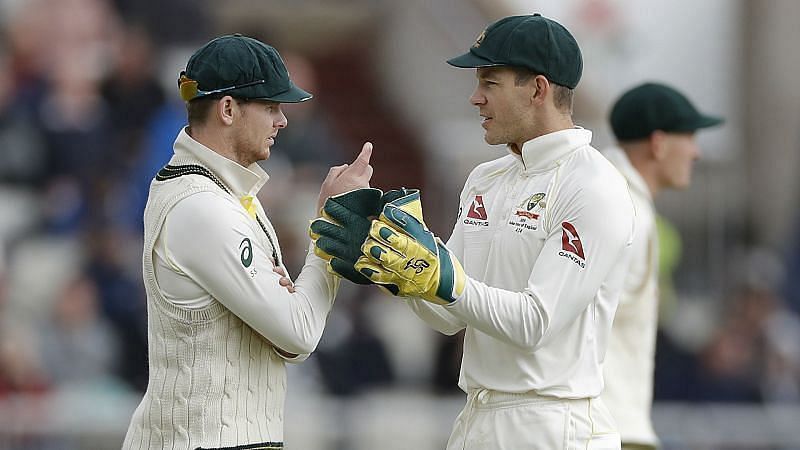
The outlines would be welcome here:
[[[250,100],[238,101],[238,104],[241,120],[237,125],[236,153],[246,167],[269,158],[269,150],[275,144],[278,130],[286,127],[288,121],[280,103]]]

